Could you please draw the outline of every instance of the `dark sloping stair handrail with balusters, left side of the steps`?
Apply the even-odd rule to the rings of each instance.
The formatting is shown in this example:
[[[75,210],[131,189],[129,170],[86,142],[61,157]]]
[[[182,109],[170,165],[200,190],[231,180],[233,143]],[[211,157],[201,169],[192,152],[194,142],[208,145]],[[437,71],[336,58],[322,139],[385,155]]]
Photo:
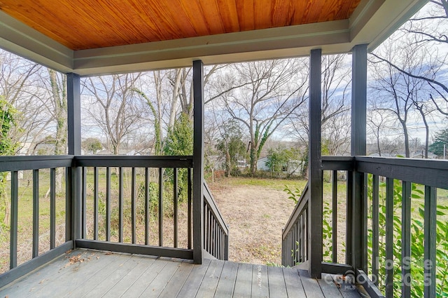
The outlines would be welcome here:
[[[216,259],[229,259],[229,229],[204,182],[204,250]]]

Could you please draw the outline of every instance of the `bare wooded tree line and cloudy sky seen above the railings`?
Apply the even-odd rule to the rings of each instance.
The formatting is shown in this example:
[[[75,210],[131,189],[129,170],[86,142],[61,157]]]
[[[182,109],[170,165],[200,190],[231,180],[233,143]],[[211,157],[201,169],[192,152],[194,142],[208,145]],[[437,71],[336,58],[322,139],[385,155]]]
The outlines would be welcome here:
[[[409,157],[418,149],[427,157],[437,133],[431,127],[446,127],[447,22],[447,1],[429,1],[369,55],[370,151]],[[307,156],[308,63],[302,57],[205,68],[210,168],[222,164],[230,173],[246,159],[254,175],[269,140],[294,142]],[[0,95],[18,111],[7,132],[15,152],[65,154],[65,76],[5,51],[0,65]],[[349,154],[350,58],[326,55],[322,65],[323,154]],[[103,148],[110,154],[191,154],[192,69],[87,77],[81,83],[86,154]],[[424,128],[425,140],[413,137],[415,126]]]

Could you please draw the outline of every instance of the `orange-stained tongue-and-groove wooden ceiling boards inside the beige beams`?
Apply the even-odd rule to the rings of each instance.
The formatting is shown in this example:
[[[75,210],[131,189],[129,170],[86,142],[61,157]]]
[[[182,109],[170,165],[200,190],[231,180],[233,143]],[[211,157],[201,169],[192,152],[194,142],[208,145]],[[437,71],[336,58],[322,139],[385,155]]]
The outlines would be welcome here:
[[[0,0],[71,50],[348,19],[360,0]]]

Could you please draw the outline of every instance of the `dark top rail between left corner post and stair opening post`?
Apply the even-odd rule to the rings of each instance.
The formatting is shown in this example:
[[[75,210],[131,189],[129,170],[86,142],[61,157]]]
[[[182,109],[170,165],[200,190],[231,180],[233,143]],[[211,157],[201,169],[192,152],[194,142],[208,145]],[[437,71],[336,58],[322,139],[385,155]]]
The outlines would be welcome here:
[[[83,167],[193,168],[193,156],[75,156]]]

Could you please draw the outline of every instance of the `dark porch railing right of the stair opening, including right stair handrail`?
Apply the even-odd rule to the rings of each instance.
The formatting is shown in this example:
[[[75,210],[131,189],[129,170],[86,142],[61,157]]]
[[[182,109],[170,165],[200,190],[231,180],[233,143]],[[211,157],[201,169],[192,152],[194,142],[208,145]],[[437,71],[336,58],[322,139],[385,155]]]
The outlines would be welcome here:
[[[327,238],[324,236],[323,239],[324,255],[330,256],[330,263],[323,263],[323,272],[353,273],[371,297],[392,298],[394,293],[398,293],[400,297],[411,297],[411,290],[415,285],[424,287],[422,296],[435,297],[436,190],[448,189],[448,162],[410,158],[325,156],[322,158],[322,169],[330,172],[328,177],[331,177],[332,184],[330,198],[324,196],[324,202],[331,206],[331,212],[327,217],[324,216],[324,221],[331,226],[332,232],[330,236],[325,233]],[[356,183],[353,180],[355,172],[356,175],[361,175],[360,187],[353,187]],[[344,194],[341,194],[341,187],[346,188]],[[353,189],[360,189],[360,193],[353,193]],[[421,197],[420,201],[415,201],[414,197],[418,196]],[[283,230],[282,262],[288,266],[307,260],[298,253],[307,248],[307,245],[306,241],[302,240],[300,231],[297,231],[300,220],[309,221],[309,218],[300,219],[300,215],[309,217],[309,212],[305,213],[307,199],[310,198],[307,198],[304,191]],[[338,210],[339,202],[346,205],[345,210]],[[421,227],[423,241],[411,239],[412,209],[419,208],[419,205],[414,205],[416,203],[424,206],[424,221]],[[353,205],[358,205],[358,209],[353,208]],[[356,210],[359,214],[355,213]],[[353,217],[360,220],[353,220]],[[345,229],[341,229],[340,218],[344,219]],[[400,231],[400,234],[397,234],[397,231]],[[343,241],[338,241],[339,233],[345,235]],[[356,243],[353,235],[360,238],[360,241],[357,241],[358,246],[353,244]],[[424,260],[425,280],[418,280],[421,276],[412,276],[409,259],[415,258],[415,255],[412,255],[411,241],[422,241],[424,246],[424,252],[419,258]],[[338,246],[340,248],[342,242],[345,250],[344,260],[338,258],[341,253],[338,252]],[[393,266],[397,254],[400,255],[400,264]],[[342,261],[345,264],[338,264],[338,260],[339,263]],[[356,268],[351,266],[353,260],[358,260]],[[394,270],[397,269],[401,272],[400,276],[394,275]],[[374,280],[374,283],[371,280]],[[412,285],[413,281],[416,284]],[[377,285],[382,292],[378,290]]]

